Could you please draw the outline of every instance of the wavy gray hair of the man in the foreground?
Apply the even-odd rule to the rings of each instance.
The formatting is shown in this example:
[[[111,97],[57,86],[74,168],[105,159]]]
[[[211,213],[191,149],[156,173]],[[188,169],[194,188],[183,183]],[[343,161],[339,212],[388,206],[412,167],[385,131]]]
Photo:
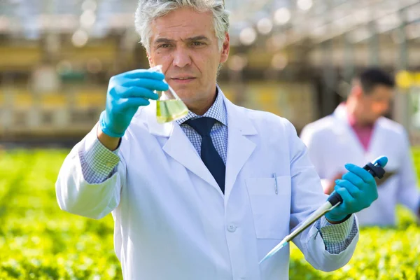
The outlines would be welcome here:
[[[144,48],[150,52],[151,22],[155,18],[182,7],[194,8],[198,12],[211,11],[213,13],[214,31],[218,38],[218,48],[221,50],[225,41],[225,32],[229,30],[229,12],[225,10],[224,0],[139,0],[135,25]]]

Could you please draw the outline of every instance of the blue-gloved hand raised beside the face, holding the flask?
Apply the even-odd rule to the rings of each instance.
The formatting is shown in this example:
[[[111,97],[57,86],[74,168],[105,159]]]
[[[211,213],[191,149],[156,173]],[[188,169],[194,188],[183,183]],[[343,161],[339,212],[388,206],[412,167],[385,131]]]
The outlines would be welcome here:
[[[125,130],[139,106],[150,104],[148,99],[158,99],[153,90],[168,90],[162,73],[137,69],[120,73],[109,80],[106,109],[101,113],[99,125],[110,137],[123,137]]]

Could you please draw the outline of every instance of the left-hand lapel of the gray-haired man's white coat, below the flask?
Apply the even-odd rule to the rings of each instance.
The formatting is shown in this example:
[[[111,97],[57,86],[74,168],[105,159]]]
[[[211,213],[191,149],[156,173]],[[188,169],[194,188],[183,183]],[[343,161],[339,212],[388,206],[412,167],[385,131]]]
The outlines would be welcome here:
[[[156,106],[151,104],[151,106],[148,107],[154,108],[154,110],[150,109],[147,112],[149,132],[156,136],[169,137],[163,146],[163,151],[174,158],[174,160],[181,163],[181,165],[190,170],[190,172],[193,172],[211,186],[217,188],[221,193],[218,183],[211,175],[206,165],[204,165],[200,155],[198,155],[182,128],[175,122],[165,123],[163,125],[158,123],[155,116]]]

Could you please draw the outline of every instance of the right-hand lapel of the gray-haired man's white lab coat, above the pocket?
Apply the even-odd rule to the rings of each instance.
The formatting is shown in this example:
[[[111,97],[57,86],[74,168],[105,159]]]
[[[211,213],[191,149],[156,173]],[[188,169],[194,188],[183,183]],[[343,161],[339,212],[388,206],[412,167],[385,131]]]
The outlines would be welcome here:
[[[243,109],[235,106],[225,97],[223,98],[228,113],[228,155],[225,179],[226,204],[239,172],[255,149],[255,144],[247,136],[258,134],[258,132]]]

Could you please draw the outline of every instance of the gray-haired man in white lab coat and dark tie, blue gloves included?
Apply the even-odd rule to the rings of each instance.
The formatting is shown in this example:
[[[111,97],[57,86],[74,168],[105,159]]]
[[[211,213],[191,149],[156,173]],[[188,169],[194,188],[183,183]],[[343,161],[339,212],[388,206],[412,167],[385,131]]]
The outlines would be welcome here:
[[[110,79],[99,123],[60,169],[59,207],[113,214],[125,279],[288,279],[288,246],[259,260],[327,196],[293,125],[235,106],[217,86],[230,41],[223,2],[141,0],[136,25],[165,76],[137,69]],[[189,112],[160,124],[153,90],[168,90],[164,78]],[[349,261],[353,213],[377,199],[373,177],[346,168],[344,203],[293,240],[316,269]]]

